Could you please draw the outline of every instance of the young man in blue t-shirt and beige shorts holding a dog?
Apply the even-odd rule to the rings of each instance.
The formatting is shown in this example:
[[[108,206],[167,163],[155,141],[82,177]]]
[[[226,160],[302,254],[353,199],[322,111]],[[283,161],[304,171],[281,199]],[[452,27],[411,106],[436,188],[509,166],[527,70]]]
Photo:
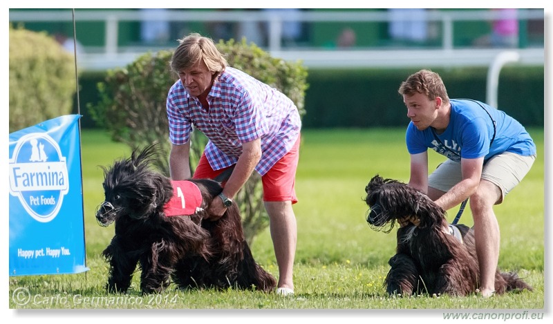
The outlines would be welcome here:
[[[409,186],[448,210],[470,198],[480,293],[494,294],[499,225],[494,204],[503,202],[536,159],[536,146],[514,118],[482,102],[449,99],[442,79],[420,70],[398,90],[411,119],[406,131],[411,155]],[[428,175],[428,149],[447,160]]]

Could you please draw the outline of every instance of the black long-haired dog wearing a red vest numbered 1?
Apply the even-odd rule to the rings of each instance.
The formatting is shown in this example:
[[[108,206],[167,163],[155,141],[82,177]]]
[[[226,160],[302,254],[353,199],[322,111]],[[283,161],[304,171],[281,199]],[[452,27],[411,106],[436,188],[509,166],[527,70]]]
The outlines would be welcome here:
[[[180,289],[226,288],[270,291],[274,277],[256,264],[233,203],[223,217],[205,219],[212,200],[223,190],[214,180],[175,183],[151,170],[156,149],[147,146],[104,170],[105,201],[96,212],[102,226],[115,222],[115,236],[103,252],[109,262],[109,292],[126,292],[136,265],[142,270],[142,293],[162,292],[170,279]],[[179,186],[194,194],[187,196]],[[171,200],[176,192],[176,198]],[[184,210],[168,216],[169,201]]]

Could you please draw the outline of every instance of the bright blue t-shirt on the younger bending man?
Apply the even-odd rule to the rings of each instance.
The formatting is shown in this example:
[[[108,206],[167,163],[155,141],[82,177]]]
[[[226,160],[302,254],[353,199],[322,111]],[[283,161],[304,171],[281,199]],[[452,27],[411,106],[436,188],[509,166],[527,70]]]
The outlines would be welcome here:
[[[496,124],[495,137],[492,120]],[[419,131],[410,122],[405,138],[410,154],[430,148],[456,162],[461,158],[488,160],[503,152],[536,154],[536,145],[521,123],[503,111],[469,99],[451,99],[449,124],[440,135],[432,127]]]

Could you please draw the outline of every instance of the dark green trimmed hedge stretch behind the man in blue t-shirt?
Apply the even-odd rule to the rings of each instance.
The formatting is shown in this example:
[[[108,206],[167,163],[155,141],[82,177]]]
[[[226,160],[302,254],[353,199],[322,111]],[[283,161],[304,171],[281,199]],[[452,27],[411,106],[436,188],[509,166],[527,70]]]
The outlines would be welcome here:
[[[487,68],[432,69],[451,98],[486,100]],[[309,70],[305,128],[402,126],[409,119],[397,89],[416,69]],[[543,126],[543,67],[506,67],[498,108],[525,126]]]

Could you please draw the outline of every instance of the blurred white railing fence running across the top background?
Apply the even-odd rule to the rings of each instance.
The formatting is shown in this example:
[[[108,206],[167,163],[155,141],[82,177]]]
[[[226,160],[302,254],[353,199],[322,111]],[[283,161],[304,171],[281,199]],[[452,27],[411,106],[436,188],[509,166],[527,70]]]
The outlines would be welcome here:
[[[541,9],[520,9],[518,19],[542,20]],[[328,50],[324,48],[283,48],[281,47],[282,27],[288,21],[304,22],[386,22],[391,19],[387,12],[366,11],[299,11],[293,16],[274,15],[263,11],[187,11],[169,10],[162,14],[153,12],[144,17],[138,10],[75,10],[76,21],[104,21],[105,44],[97,51],[79,54],[77,62],[84,70],[105,70],[125,66],[147,50],[162,48],[141,46],[118,46],[118,28],[121,21],[194,21],[194,22],[241,22],[261,21],[268,23],[268,46],[265,50],[273,57],[290,61],[303,61],[311,68],[360,68],[360,67],[448,67],[448,66],[489,66],[504,49],[494,48],[454,48],[453,22],[492,21],[500,19],[500,14],[492,10],[452,10],[429,11],[425,19],[438,22],[441,26],[440,48],[351,48],[348,50]],[[413,17],[413,19],[417,19]],[[10,21],[73,21],[71,10],[10,10]],[[77,30],[79,32],[85,32]],[[89,31],[86,31],[89,32]],[[539,48],[514,49],[518,53],[517,64],[543,65],[545,51]],[[87,51],[88,52],[88,51]]]

